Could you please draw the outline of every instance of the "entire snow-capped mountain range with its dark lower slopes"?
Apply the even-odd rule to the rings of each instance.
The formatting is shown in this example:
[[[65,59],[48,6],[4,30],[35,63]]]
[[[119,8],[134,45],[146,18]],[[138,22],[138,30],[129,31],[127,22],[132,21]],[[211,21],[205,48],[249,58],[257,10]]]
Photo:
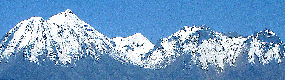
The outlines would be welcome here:
[[[285,79],[284,57],[270,29],[184,26],[154,45],[141,33],[110,39],[67,9],[23,20],[1,39],[0,79]]]

